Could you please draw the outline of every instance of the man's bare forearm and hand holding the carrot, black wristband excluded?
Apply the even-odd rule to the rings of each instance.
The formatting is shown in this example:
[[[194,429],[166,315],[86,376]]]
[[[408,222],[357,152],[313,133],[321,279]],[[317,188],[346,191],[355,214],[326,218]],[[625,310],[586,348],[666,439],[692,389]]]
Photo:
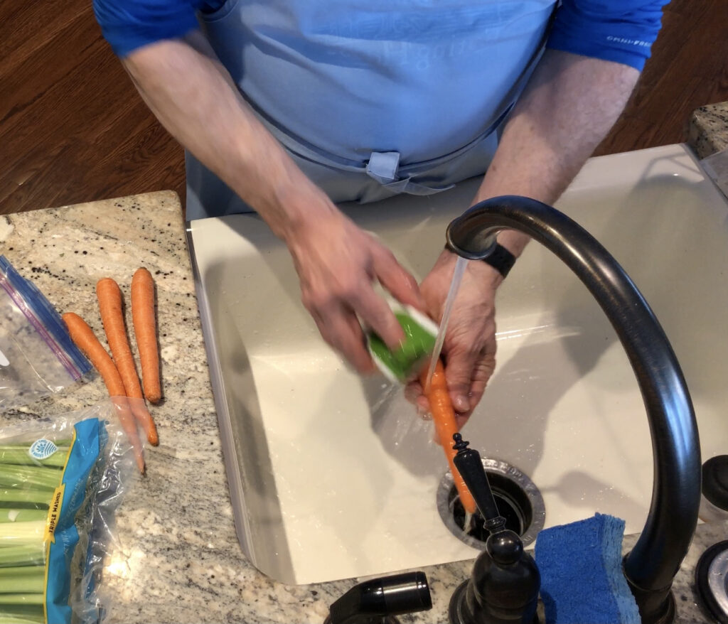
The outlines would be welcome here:
[[[553,204],[612,127],[639,71],[612,61],[547,50],[519,98],[475,202],[525,195]],[[516,257],[528,237],[498,236]],[[442,315],[454,257],[444,252],[422,283],[427,309]],[[448,389],[462,424],[483,395],[495,366],[495,290],[502,277],[483,262],[470,262],[448,324],[443,359]],[[419,384],[406,394],[427,408]]]

